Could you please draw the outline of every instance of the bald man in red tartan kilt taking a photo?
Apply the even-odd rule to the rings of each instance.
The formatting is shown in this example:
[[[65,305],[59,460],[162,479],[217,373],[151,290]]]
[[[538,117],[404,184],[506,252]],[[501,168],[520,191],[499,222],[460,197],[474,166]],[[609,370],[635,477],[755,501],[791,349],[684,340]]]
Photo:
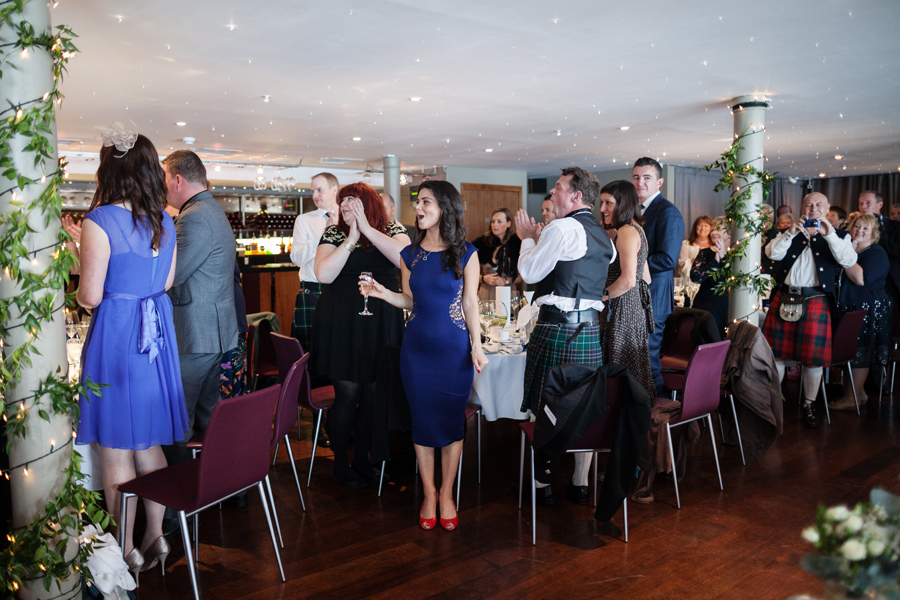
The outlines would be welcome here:
[[[822,367],[831,364],[831,310],[836,306],[837,269],[856,264],[850,235],[828,222],[828,210],[824,194],[807,195],[801,218],[766,246],[766,255],[775,265],[775,287],[763,333],[772,346],[779,381],[784,379],[786,361],[803,365],[803,425],[812,429],[819,426],[813,403],[819,393]],[[785,320],[780,314],[788,295],[795,304],[802,297],[799,320]]]

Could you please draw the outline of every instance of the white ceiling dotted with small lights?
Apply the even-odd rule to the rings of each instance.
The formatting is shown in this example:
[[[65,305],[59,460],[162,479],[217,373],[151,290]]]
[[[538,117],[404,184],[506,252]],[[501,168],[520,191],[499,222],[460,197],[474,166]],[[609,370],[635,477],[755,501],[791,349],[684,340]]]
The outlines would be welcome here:
[[[304,166],[701,166],[728,101],[765,93],[770,170],[900,168],[896,0],[62,0],[53,21],[80,36],[58,124],[85,150],[131,120],[163,154]]]

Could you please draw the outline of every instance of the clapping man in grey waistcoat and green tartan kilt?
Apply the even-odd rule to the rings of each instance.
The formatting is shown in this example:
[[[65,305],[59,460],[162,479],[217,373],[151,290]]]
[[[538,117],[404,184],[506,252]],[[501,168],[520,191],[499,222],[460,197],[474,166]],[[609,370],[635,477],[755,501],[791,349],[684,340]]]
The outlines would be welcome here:
[[[516,215],[522,239],[519,274],[526,283],[537,283],[534,303],[540,307],[528,343],[523,411],[540,407],[544,378],[551,368],[568,362],[599,367],[603,362],[600,299],[616,250],[591,214],[599,195],[600,181],[594,174],[569,167],[551,191],[554,220],[544,226],[524,210]],[[578,504],[588,503],[590,458],[588,453],[575,455],[575,473],[566,486],[566,495]],[[538,502],[551,504],[550,487],[537,485]]]

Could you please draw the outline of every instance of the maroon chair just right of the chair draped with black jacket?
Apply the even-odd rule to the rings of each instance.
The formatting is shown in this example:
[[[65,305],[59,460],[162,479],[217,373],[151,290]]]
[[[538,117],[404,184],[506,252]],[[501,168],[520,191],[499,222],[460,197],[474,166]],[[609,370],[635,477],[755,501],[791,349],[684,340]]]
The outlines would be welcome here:
[[[691,421],[706,419],[709,424],[709,437],[712,440],[713,458],[716,461],[716,473],[719,476],[719,489],[722,485],[722,471],[719,468],[719,454],[716,451],[716,436],[713,432],[712,413],[719,408],[720,381],[722,366],[731,340],[703,344],[697,346],[691,355],[684,373],[684,388],[681,395],[681,411],[672,416],[666,423],[666,437],[669,442],[669,455],[672,460],[672,480],[675,482],[675,501],[681,508],[681,496],[678,492],[678,473],[675,469],[675,446],[672,444],[672,428],[685,425]],[[657,406],[666,407],[674,403],[668,398],[657,398]]]

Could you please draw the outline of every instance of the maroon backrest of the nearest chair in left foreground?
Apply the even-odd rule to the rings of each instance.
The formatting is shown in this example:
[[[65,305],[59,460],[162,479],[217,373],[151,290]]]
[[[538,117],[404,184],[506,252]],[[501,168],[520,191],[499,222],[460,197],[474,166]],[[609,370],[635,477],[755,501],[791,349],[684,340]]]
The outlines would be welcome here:
[[[209,417],[197,471],[197,501],[210,504],[269,472],[272,422],[281,385],[219,400]]]

